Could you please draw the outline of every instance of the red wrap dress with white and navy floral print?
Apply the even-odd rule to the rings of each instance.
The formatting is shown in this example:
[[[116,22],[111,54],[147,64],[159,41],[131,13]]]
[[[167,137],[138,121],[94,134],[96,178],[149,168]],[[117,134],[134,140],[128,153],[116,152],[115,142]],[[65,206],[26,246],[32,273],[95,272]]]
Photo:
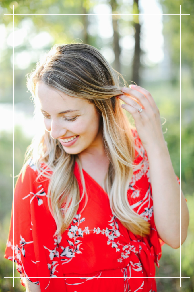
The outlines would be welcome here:
[[[128,187],[131,207],[151,223],[150,235],[142,239],[112,215],[107,193],[84,170],[87,206],[81,213],[82,200],[62,237],[53,237],[56,223],[47,206],[49,179],[35,181],[38,172],[32,159],[28,160],[23,182],[21,175],[18,177],[14,192],[14,261],[20,275],[40,285],[41,291],[157,291],[154,278],[131,278],[155,276],[155,263],[159,267],[164,244],[154,223],[147,153],[137,131],[132,132],[134,162],[146,166],[146,170],[134,170]],[[82,194],[77,163],[74,173]],[[13,260],[13,205],[4,258]],[[22,278],[21,284],[25,286]]]

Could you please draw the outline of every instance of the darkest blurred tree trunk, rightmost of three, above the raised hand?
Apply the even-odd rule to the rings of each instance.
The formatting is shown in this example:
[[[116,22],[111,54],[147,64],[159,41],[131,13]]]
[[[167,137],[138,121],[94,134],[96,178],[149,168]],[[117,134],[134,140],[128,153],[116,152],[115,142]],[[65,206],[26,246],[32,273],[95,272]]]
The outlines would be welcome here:
[[[133,2],[133,14],[139,14],[138,7],[139,0],[134,0]],[[132,65],[132,80],[139,85],[139,68],[140,68],[140,23],[139,16],[133,16],[134,29],[135,29],[135,51],[133,56],[133,65]]]

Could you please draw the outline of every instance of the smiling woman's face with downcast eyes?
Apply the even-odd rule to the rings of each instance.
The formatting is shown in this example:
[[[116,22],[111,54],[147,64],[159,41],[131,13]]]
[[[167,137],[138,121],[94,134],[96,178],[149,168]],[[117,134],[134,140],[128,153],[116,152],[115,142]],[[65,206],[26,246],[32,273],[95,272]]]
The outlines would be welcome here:
[[[100,114],[94,104],[66,95],[41,82],[36,84],[35,99],[43,114],[46,131],[50,132],[53,139],[59,140],[65,152],[78,154],[98,145],[101,135]],[[64,111],[67,112],[62,113]],[[75,140],[63,142],[61,139],[66,137],[74,137]]]

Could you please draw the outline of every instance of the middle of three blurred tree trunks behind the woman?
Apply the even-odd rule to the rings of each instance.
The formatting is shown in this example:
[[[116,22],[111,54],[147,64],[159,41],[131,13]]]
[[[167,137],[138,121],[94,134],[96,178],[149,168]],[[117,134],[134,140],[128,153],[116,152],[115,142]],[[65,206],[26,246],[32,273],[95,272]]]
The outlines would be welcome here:
[[[110,4],[111,4],[111,8],[112,8],[112,14],[116,14],[117,1],[111,0]],[[121,53],[121,49],[119,47],[119,31],[118,31],[117,16],[112,15],[112,24],[113,24],[113,30],[114,30],[114,40],[113,40],[113,50],[114,50],[114,55],[115,55],[114,69],[116,71],[120,72],[119,56]]]

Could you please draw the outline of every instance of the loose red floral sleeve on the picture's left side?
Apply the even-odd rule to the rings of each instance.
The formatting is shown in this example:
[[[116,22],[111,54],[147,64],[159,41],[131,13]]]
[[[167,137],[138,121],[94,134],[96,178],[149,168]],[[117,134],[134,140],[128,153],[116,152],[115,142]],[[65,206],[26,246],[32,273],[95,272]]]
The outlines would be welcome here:
[[[23,180],[22,173],[20,173],[14,188],[14,244],[12,203],[10,228],[4,258],[13,261],[14,257],[20,277],[27,277],[29,281],[39,285],[32,236],[31,210],[29,200],[26,200],[27,197],[31,197],[31,194],[36,193],[33,184],[36,179],[36,173],[28,163],[25,164],[24,172]],[[26,287],[25,278],[21,278],[20,282]]]

